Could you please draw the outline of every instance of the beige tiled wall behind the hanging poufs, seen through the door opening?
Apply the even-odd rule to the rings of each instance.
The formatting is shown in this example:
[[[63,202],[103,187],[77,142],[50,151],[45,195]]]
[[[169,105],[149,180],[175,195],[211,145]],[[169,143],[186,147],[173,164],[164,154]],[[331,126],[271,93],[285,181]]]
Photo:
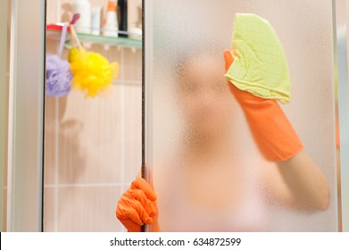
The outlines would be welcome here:
[[[104,8],[104,0],[90,0]],[[138,18],[141,1],[130,1]],[[46,23],[71,21],[74,1],[46,1]],[[132,14],[132,12],[134,12]],[[130,25],[134,25],[130,22]],[[120,66],[110,88],[94,97],[80,89],[45,96],[44,231],[122,231],[115,217],[119,197],[141,165],[141,55],[138,37],[79,33],[87,51]],[[61,32],[46,30],[46,56],[57,54]],[[67,44],[71,33],[67,34]],[[67,61],[65,46],[62,60]],[[47,67],[46,67],[47,68]]]

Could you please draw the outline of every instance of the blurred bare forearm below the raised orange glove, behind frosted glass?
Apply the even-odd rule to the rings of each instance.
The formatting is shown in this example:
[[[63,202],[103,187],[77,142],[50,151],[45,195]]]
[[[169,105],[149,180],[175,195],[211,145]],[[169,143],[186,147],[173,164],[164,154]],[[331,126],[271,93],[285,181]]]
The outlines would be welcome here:
[[[269,168],[268,168],[269,167]],[[267,166],[264,174],[271,198],[280,205],[303,212],[324,211],[329,206],[329,187],[312,158],[301,151],[276,166]]]

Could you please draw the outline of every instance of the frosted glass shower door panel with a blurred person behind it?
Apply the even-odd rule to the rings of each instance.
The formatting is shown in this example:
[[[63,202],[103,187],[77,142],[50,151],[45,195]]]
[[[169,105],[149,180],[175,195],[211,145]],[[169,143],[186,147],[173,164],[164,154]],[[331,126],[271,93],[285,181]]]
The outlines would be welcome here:
[[[268,20],[284,47],[292,99],[280,106],[328,183],[328,206],[287,203],[303,183],[264,159],[229,91],[223,50],[237,12]],[[145,1],[145,162],[160,230],[337,230],[332,26],[329,0]]]

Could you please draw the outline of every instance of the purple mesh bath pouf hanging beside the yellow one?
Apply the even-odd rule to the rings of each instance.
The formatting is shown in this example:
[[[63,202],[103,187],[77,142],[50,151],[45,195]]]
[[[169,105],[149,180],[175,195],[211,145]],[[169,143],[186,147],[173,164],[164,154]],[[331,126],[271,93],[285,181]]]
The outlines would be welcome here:
[[[46,55],[46,95],[67,96],[71,92],[70,64],[57,54]]]

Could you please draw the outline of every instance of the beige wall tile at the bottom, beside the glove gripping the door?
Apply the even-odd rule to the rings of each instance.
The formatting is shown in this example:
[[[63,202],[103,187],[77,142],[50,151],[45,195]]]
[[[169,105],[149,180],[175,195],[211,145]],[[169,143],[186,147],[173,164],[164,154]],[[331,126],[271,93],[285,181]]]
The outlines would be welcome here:
[[[120,231],[120,187],[60,187],[58,231]]]

